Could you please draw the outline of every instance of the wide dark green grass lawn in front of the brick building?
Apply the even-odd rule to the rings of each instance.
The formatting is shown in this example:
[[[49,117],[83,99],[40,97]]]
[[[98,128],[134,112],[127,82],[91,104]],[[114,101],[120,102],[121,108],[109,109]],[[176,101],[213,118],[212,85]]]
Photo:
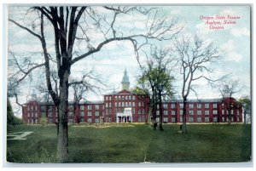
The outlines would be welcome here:
[[[118,126],[118,127],[117,127]],[[178,125],[154,131],[149,124],[111,127],[69,126],[70,162],[249,162],[251,125]],[[56,127],[21,125],[8,134],[32,131],[26,140],[7,141],[8,162],[57,162]]]

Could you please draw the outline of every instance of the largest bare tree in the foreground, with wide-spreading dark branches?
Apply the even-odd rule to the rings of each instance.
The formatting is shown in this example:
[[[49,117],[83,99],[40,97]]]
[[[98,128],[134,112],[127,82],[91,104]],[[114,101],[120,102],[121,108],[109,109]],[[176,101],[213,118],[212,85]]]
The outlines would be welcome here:
[[[71,67],[84,58],[100,52],[105,45],[114,41],[131,42],[138,58],[143,45],[149,40],[168,40],[181,29],[175,20],[163,14],[160,9],[139,6],[40,6],[29,8],[27,13],[31,13],[34,20],[26,23],[14,19],[9,21],[37,38],[38,43],[41,44],[44,59],[41,64],[29,67],[27,72],[44,67],[46,85],[58,111],[57,157],[60,162],[68,160],[67,107]],[[135,26],[131,29],[121,26],[120,18],[133,14],[141,15],[146,19],[143,31],[137,31]],[[47,23],[51,26],[49,29],[54,32],[53,42],[50,44],[54,44],[54,55],[48,52],[51,40],[47,39],[50,36],[46,35],[45,31]],[[101,37],[94,37],[96,34]],[[81,48],[79,44],[87,48]],[[59,94],[55,92],[50,78],[51,59],[56,62]]]

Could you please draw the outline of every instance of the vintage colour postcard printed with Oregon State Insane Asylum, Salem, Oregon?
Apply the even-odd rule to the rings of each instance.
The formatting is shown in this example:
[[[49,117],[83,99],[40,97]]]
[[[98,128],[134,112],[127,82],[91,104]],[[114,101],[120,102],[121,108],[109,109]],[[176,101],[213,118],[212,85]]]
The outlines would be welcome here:
[[[251,4],[37,5],[6,6],[7,163],[252,163]]]

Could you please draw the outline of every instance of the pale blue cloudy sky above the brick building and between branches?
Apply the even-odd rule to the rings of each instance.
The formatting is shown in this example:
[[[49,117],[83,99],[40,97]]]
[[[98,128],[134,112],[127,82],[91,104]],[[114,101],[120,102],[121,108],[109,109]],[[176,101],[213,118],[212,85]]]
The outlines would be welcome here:
[[[183,30],[179,33],[180,36],[200,35],[207,41],[211,41],[215,47],[218,47],[221,59],[218,64],[215,64],[214,77],[221,77],[225,74],[230,74],[232,79],[238,79],[247,86],[239,94],[235,94],[236,98],[250,95],[250,9],[249,6],[158,6],[163,9],[165,16],[171,16],[177,20],[178,26],[183,26]],[[98,12],[105,14],[106,11],[98,9]],[[9,7],[9,18],[22,21],[23,9],[14,9]],[[33,16],[26,16],[26,20],[30,20]],[[119,31],[129,32],[143,31],[145,26],[145,18],[139,15],[121,16],[117,18]],[[209,25],[208,23],[213,23]],[[231,24],[224,24],[231,23]],[[49,40],[53,34],[51,27],[46,27],[46,35]],[[19,27],[8,23],[8,48],[9,51],[19,54],[20,59],[24,56],[34,62],[42,62],[40,53],[40,44],[35,37],[32,37],[26,31]],[[96,31],[90,31],[92,37],[91,43],[96,43],[102,38]],[[162,43],[168,47],[170,42]],[[79,44],[86,50],[86,44]],[[54,46],[49,41],[49,52],[54,52]],[[40,56],[41,55],[41,56]],[[11,58],[9,56],[9,58]],[[142,56],[143,59],[143,56]],[[130,77],[131,87],[137,85],[136,78],[140,73],[137,59],[130,42],[113,42],[104,46],[100,53],[89,56],[86,60],[81,60],[72,67],[73,77],[81,77],[81,74],[94,69],[96,74],[102,81],[108,83],[108,87],[102,90],[99,94],[89,94],[88,100],[102,100],[102,94],[108,94],[113,90],[120,90],[120,82],[125,69]],[[11,73],[12,71],[9,71]],[[181,79],[178,71],[173,71],[177,77],[175,83],[177,92],[181,92]],[[22,88],[23,94],[20,95],[20,101],[23,103],[29,99],[32,91],[36,91],[34,83],[38,82],[38,73],[32,73],[35,77],[32,83],[24,83]],[[212,89],[206,81],[200,80],[198,84],[198,98],[219,98],[218,91]],[[178,95],[178,94],[177,94]],[[194,99],[195,94],[189,94],[189,99]]]

